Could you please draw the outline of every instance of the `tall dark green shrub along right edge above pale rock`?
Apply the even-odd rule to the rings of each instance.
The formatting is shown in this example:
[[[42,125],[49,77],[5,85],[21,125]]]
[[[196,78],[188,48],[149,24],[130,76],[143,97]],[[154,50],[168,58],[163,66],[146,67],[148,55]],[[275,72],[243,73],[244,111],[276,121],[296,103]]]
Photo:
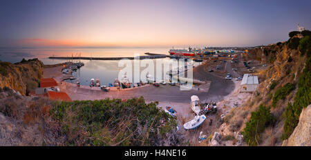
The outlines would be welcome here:
[[[303,108],[310,104],[311,100],[311,57],[308,57],[305,68],[299,77],[298,90],[294,97],[294,104],[288,103],[288,108],[285,110],[285,123],[283,126],[282,139],[288,139],[290,134],[294,132],[299,116]]]

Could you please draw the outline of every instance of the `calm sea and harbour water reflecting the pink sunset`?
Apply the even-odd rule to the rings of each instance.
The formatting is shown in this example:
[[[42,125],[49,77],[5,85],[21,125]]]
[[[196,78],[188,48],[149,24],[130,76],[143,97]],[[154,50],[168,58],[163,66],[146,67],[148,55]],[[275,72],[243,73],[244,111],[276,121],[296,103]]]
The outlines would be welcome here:
[[[0,49],[0,60],[10,61],[16,63],[21,59],[38,58],[44,64],[64,63],[68,60],[62,59],[48,59],[50,56],[72,57],[81,54],[82,57],[133,57],[134,54],[145,55],[145,52],[153,52],[160,54],[168,54],[169,48],[109,48],[109,49]],[[163,63],[168,63],[169,59],[160,59]],[[71,60],[78,62],[78,60]],[[152,60],[156,67],[156,59]],[[81,60],[84,66],[73,72],[73,76],[79,78],[82,85],[88,86],[90,79],[100,79],[103,85],[113,83],[114,79],[118,77],[119,71],[122,68],[118,67],[119,61],[100,61],[100,60]],[[132,61],[133,63],[133,61]],[[199,63],[194,63],[198,65]],[[142,72],[144,68],[140,68]],[[163,67],[162,67],[163,71]],[[133,72],[138,72],[134,70]],[[156,71],[154,72],[156,74]],[[163,73],[162,73],[163,75]],[[153,76],[156,77],[156,76]],[[72,82],[75,82],[72,81]]]

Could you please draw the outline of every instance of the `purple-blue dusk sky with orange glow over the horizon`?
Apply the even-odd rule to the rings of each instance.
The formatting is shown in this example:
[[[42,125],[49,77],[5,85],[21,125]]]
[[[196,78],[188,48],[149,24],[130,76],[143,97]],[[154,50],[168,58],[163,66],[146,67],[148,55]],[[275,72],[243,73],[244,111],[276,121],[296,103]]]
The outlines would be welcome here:
[[[0,3],[0,48],[258,46],[311,30],[310,0]]]

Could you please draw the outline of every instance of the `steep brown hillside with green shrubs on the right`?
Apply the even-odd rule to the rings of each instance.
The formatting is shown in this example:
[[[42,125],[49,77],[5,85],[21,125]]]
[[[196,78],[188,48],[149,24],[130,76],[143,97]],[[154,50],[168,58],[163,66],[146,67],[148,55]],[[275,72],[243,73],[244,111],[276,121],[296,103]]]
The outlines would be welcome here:
[[[301,32],[291,32],[286,42],[249,50],[247,59],[267,63],[269,67],[255,73],[260,79],[256,92],[226,115],[220,132],[241,133],[249,146],[281,146],[290,137],[301,111],[311,103],[309,33],[305,31],[297,37]],[[310,143],[310,139],[299,141]]]

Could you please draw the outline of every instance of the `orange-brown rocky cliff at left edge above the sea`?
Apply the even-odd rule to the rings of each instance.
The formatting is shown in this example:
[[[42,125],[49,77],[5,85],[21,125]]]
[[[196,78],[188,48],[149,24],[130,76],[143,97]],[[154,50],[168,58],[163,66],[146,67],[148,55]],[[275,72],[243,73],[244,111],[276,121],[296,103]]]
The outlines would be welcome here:
[[[0,61],[0,88],[8,87],[26,95],[39,86],[44,64],[38,59],[20,63]]]

